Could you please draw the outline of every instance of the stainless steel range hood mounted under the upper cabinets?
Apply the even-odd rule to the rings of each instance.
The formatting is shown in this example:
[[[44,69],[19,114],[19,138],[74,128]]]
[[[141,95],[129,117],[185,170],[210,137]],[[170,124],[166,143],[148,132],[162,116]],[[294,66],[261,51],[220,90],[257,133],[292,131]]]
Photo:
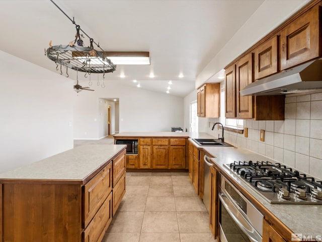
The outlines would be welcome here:
[[[249,84],[239,93],[241,96],[263,96],[312,90],[322,91],[322,59],[260,79]]]

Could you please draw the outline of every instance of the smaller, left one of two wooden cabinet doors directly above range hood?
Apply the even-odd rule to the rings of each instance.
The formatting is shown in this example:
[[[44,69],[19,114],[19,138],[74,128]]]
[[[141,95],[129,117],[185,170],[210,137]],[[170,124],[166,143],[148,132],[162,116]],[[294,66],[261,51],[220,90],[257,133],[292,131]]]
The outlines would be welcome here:
[[[266,40],[254,50],[255,80],[279,71],[278,36]]]

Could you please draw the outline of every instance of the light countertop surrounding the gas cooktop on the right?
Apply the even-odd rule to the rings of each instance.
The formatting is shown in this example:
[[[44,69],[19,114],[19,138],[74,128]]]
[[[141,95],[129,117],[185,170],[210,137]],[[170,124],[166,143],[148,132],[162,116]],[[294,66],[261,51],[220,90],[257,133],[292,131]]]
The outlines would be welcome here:
[[[241,187],[246,189],[256,200],[263,204],[266,209],[274,214],[275,217],[277,217],[294,233],[322,235],[322,205],[270,204],[266,199],[250,188],[250,185],[246,181],[223,166],[223,164],[239,160],[252,160],[254,162],[271,161],[276,163],[275,160],[242,148],[199,147],[209,155],[215,157],[211,160],[220,169],[221,173],[237,180]]]

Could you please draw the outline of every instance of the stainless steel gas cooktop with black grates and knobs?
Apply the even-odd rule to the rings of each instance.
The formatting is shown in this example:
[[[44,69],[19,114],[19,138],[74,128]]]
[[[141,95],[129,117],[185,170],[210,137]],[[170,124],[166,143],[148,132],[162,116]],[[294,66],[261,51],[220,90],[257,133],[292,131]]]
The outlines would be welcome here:
[[[322,181],[280,163],[234,161],[225,164],[271,204],[322,204]]]

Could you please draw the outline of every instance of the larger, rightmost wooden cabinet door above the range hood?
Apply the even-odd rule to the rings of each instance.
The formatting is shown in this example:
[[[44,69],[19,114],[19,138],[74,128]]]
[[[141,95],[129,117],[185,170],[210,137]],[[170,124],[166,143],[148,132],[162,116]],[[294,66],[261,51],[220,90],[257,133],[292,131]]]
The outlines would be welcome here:
[[[315,5],[281,30],[281,70],[321,56],[319,17]]]

